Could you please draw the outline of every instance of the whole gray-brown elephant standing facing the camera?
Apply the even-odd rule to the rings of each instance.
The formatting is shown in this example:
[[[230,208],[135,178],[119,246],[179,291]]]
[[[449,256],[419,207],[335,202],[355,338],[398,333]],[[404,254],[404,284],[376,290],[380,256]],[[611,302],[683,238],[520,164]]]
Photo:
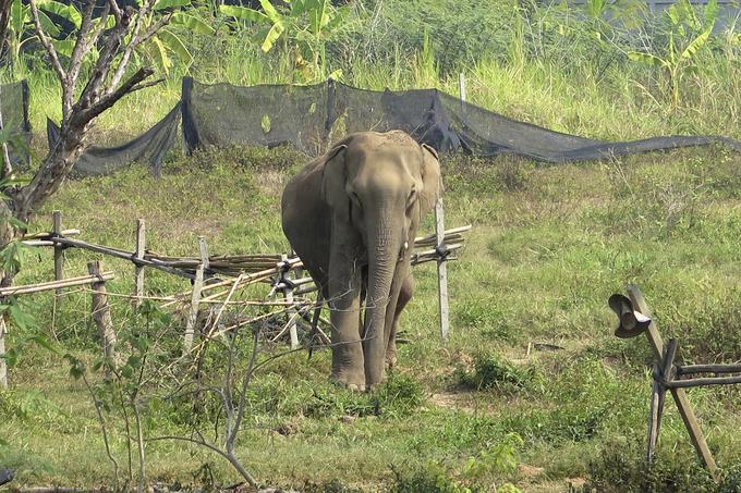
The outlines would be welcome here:
[[[401,131],[353,134],[286,186],[283,232],[331,311],[331,379],[353,390],[396,363],[410,252],[440,193],[437,153]]]

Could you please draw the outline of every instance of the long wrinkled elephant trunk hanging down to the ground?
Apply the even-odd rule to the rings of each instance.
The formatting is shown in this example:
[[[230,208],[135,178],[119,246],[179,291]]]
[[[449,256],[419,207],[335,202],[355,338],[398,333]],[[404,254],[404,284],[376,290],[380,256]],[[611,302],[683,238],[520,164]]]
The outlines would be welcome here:
[[[368,287],[365,301],[363,355],[367,385],[380,383],[387,346],[387,311],[393,311],[398,289],[391,292],[399,251],[405,237],[401,227],[393,227],[391,218],[368,224]]]

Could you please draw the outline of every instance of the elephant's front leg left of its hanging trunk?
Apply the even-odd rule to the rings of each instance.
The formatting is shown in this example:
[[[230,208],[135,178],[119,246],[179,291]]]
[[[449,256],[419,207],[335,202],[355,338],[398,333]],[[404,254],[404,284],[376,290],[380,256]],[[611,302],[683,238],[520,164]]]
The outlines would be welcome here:
[[[329,268],[332,371],[330,379],[351,390],[365,390],[360,332],[361,272],[345,252],[332,256]]]

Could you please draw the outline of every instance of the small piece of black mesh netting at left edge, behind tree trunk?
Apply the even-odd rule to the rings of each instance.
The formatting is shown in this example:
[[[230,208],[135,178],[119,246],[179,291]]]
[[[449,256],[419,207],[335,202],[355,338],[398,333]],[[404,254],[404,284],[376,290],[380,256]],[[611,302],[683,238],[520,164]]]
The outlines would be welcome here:
[[[27,164],[31,148],[28,85],[25,81],[0,85],[0,114],[3,138],[13,165]],[[0,158],[2,159],[2,158]]]

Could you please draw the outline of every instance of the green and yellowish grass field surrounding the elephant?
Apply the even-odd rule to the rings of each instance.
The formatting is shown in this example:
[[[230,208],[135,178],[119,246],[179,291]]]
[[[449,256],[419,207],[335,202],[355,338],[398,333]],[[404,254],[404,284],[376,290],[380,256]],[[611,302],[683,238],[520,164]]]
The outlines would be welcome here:
[[[414,23],[406,7],[390,4]],[[507,19],[507,12],[497,15]],[[624,50],[612,53],[617,62],[603,64],[600,57],[611,52],[587,49],[592,24],[580,24],[582,30],[567,25],[571,35],[567,29],[563,39],[548,41],[548,29],[558,26],[537,24],[544,19],[550,17],[529,17],[530,24],[496,32],[490,42],[503,39],[497,57],[463,57],[459,66],[444,63],[458,56],[439,40],[436,53],[404,52],[399,41],[386,59],[339,53],[332,63],[342,64],[345,82],[361,87],[432,86],[451,94],[462,70],[472,102],[594,138],[676,133],[741,138],[738,34],[719,37],[702,53],[703,72],[687,75],[681,103],[673,106],[661,73],[630,63]],[[401,33],[403,23],[391,21],[379,30],[384,36]],[[535,25],[545,41],[532,36]],[[569,36],[581,44],[574,60],[564,49]],[[259,54],[242,41],[215,41],[223,57],[209,57],[217,48],[204,44],[190,73],[204,82],[293,81],[284,59]],[[185,73],[175,72],[162,86],[107,112],[94,131],[95,143],[120,143],[163,116]],[[46,115],[60,113],[59,89],[48,72],[26,75],[34,148],[42,156],[40,131]],[[143,218],[147,246],[155,251],[195,255],[198,236],[207,238],[212,254],[286,251],[280,194],[306,160],[290,149],[206,149],[192,157],[173,153],[159,180],[141,165],[69,180],[31,231],[48,230],[51,211],[59,209],[64,226],[81,229],[82,238],[126,249],[134,245],[135,220]],[[651,352],[644,338],[612,335],[616,318],[607,306],[612,293],[635,283],[665,338],[678,337],[681,361],[741,360],[741,156],[706,147],[562,165],[444,156],[441,165],[447,223],[473,225],[460,259],[449,264],[450,341],[438,335],[436,271],[425,264],[414,270],[417,291],[402,318],[399,367],[378,391],[352,394],[330,385],[328,350],[308,358],[305,350],[282,355],[286,346],[266,345],[260,360],[276,358],[255,374],[247,392],[236,446],[244,466],[263,484],[315,492],[741,491],[738,386],[689,391],[721,469],[720,482],[700,467],[671,402],[656,463],[651,470],[643,466]],[[427,218],[424,232],[432,227]],[[87,261],[100,258],[75,249],[65,254],[68,275],[82,275]],[[105,264],[117,275],[109,291],[130,294],[132,266],[108,258]],[[51,254],[29,250],[16,282],[52,276]],[[190,284],[147,271],[146,288],[166,296]],[[267,292],[258,287],[240,296],[263,299]],[[8,337],[9,347],[24,352],[11,369],[11,389],[0,391],[0,468],[17,469],[16,488],[111,488],[117,478],[97,400],[119,466],[118,484],[135,488],[136,451],[127,447],[125,429],[133,418],[92,370],[98,343],[89,293],[73,291],[60,304],[51,295],[23,303],[37,326],[13,328]],[[203,447],[153,440],[193,437],[194,430],[211,437],[223,421],[218,399],[194,399],[173,389],[178,375],[169,372],[168,358],[182,333],[183,310],[147,316],[124,297],[111,297],[111,305],[126,356],[141,356],[136,341],[150,341],[147,382],[135,398],[147,480],[205,489],[239,482],[228,463]],[[32,341],[39,334],[53,350]],[[240,370],[251,349],[248,332],[243,334]],[[71,358],[64,355],[87,366],[95,400],[85,381],[70,375]],[[224,361],[223,348],[209,349],[208,382],[220,381]],[[131,390],[124,385],[116,395]]]

